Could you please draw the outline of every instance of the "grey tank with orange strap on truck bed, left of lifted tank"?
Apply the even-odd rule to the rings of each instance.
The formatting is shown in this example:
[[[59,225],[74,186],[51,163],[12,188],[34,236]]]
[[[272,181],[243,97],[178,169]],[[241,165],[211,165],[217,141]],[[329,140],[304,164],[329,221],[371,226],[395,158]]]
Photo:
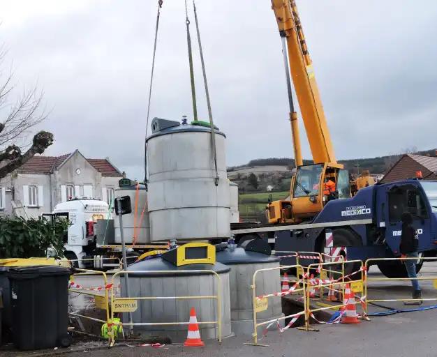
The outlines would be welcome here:
[[[135,213],[135,201],[137,197],[137,192],[138,202],[136,205],[137,207]],[[126,243],[131,243],[133,241],[134,231],[136,243],[150,243],[149,212],[147,211],[147,190],[145,188],[145,185],[138,185],[138,191],[136,185],[116,188],[115,197],[119,196],[131,197],[132,212],[123,215],[123,230]],[[115,243],[121,243],[120,222],[118,218],[114,219],[114,236]]]

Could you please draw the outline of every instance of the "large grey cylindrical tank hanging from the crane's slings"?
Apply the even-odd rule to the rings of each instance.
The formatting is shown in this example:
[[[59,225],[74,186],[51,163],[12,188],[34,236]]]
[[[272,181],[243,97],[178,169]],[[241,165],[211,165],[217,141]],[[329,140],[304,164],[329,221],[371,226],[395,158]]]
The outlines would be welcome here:
[[[151,241],[230,236],[225,135],[216,130],[218,183],[211,128],[155,118],[147,138]]]

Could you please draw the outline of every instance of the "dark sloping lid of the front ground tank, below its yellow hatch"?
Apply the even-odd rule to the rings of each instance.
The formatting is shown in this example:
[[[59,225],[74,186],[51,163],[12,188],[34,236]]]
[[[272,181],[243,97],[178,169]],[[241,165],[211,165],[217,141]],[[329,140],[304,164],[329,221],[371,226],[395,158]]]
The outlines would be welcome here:
[[[128,271],[146,271],[147,273],[138,273],[135,275],[129,276],[188,276],[188,275],[205,275],[211,274],[208,272],[196,272],[196,273],[177,273],[177,271],[197,271],[197,270],[207,270],[207,271],[215,271],[218,274],[228,273],[230,268],[220,263],[216,264],[188,264],[184,266],[175,266],[168,261],[165,261],[161,258],[149,259],[138,261],[137,263],[131,264],[128,266]],[[156,271],[174,271],[175,275],[171,273],[154,273]],[[121,275],[123,276],[123,275]]]

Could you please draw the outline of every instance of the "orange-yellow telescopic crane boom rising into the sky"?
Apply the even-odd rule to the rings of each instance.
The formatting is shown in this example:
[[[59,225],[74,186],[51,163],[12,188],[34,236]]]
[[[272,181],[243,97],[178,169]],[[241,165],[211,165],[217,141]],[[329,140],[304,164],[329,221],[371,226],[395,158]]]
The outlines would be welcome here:
[[[290,73],[299,102],[302,119],[308,137],[314,163],[336,163],[331,137],[327,128],[320,93],[314,76],[311,57],[306,47],[302,24],[299,20],[295,0],[272,0],[272,9],[278,23],[281,38],[286,39]],[[285,49],[284,49],[285,50]],[[285,54],[284,54],[285,55]],[[290,92],[290,90],[289,90]],[[289,93],[290,96],[290,93]],[[299,146],[297,125],[293,128],[294,109],[290,105],[293,143]],[[293,117],[294,116],[294,117]],[[296,122],[297,124],[297,122]],[[297,135],[296,135],[297,134]],[[295,147],[295,155],[300,147]],[[299,157],[296,157],[299,159]],[[297,160],[296,160],[297,161]],[[301,164],[302,165],[302,164]]]

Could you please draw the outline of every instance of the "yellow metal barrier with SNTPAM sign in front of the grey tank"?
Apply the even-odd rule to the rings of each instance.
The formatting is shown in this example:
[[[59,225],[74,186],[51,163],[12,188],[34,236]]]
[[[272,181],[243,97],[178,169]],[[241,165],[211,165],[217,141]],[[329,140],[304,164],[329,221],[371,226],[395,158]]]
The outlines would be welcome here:
[[[217,293],[216,295],[201,295],[201,296],[129,296],[129,297],[116,297],[114,296],[114,284],[115,279],[119,277],[120,275],[135,275],[135,274],[147,274],[150,276],[156,275],[156,274],[186,274],[186,273],[207,273],[212,274],[217,279]],[[126,282],[126,281],[125,281]],[[125,285],[126,286],[126,285]],[[120,303],[123,301],[153,301],[153,300],[188,300],[188,299],[215,299],[217,302],[217,313],[216,313],[216,319],[214,321],[198,321],[199,325],[202,324],[214,324],[217,326],[218,329],[218,342],[221,342],[221,294],[222,294],[222,285],[221,285],[221,278],[218,273],[212,270],[184,270],[184,271],[118,271],[117,273],[114,273],[112,275],[112,289],[111,289],[111,295],[110,295],[110,302],[111,302],[111,312],[110,312],[110,321],[111,324],[108,325],[108,335],[110,336],[110,346],[114,345],[115,337],[114,337],[114,327],[118,328],[120,324],[123,326],[169,326],[169,325],[188,325],[189,321],[187,322],[181,322],[181,321],[168,321],[168,322],[120,322],[118,323],[114,319],[114,305],[116,303]],[[128,311],[126,311],[128,312]],[[188,320],[187,316],[187,320]]]

